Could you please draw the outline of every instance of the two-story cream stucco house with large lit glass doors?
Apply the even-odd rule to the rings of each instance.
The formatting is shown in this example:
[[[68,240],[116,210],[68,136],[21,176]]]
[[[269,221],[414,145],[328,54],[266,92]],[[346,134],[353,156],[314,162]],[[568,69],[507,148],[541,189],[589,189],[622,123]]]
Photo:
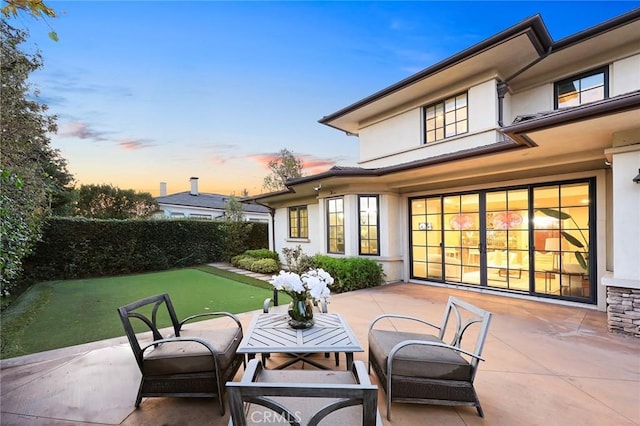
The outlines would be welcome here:
[[[609,297],[611,328],[640,336],[640,9],[559,41],[534,16],[320,123],[358,137],[361,167],[251,197],[275,209],[276,251],[598,310]]]

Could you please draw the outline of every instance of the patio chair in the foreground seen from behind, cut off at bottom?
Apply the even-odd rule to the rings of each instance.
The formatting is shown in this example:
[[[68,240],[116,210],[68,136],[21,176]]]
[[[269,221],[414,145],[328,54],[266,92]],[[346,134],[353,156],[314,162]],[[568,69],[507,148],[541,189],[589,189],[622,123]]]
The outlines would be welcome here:
[[[241,381],[227,383],[227,392],[230,426],[382,425],[378,387],[362,361],[351,371],[267,370],[253,359]]]

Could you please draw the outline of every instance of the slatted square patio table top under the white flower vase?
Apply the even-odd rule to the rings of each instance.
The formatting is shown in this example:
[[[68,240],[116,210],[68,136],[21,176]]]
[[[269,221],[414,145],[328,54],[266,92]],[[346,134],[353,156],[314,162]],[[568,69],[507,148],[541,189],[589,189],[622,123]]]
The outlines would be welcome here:
[[[296,330],[289,326],[289,315],[286,313],[257,314],[237,352],[364,352],[340,314],[316,313],[313,319],[313,327]]]

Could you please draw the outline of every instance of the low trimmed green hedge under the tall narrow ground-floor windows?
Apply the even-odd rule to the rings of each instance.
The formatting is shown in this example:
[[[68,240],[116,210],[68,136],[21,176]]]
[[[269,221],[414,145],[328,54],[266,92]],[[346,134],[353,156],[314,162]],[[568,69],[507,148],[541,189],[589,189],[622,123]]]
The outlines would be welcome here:
[[[330,257],[316,254],[311,257],[314,268],[322,268],[335,280],[331,286],[333,293],[345,293],[384,284],[382,266],[373,259],[362,257]]]

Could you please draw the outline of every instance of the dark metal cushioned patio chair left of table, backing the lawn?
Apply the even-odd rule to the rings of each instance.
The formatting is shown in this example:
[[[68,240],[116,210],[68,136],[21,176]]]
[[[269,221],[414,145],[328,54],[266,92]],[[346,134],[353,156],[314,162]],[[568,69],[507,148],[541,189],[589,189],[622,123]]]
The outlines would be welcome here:
[[[242,325],[228,312],[209,312],[178,321],[168,294],[147,297],[118,308],[120,320],[142,373],[136,408],[143,397],[218,397],[224,415],[224,384],[231,380],[244,356],[236,350],[242,340]],[[210,328],[187,328],[196,318],[228,317],[233,322]],[[158,321],[171,321],[167,334]],[[145,334],[136,334],[144,325]],[[171,333],[172,334],[168,334]]]

